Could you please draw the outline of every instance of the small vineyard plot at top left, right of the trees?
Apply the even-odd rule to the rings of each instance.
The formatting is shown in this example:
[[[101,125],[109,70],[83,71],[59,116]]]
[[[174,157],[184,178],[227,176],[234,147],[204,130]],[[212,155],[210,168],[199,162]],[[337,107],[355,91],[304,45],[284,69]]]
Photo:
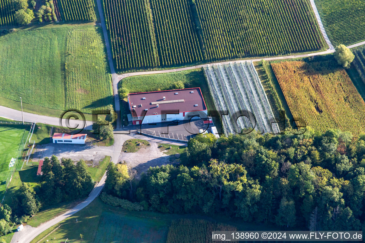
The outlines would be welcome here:
[[[62,20],[96,21],[93,0],[57,0]]]

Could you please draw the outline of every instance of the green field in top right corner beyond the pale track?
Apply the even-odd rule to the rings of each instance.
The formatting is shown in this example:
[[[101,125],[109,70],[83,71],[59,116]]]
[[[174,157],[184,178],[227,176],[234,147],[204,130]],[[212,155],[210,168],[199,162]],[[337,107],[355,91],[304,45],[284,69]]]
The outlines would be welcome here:
[[[365,0],[315,0],[333,46],[365,40]]]

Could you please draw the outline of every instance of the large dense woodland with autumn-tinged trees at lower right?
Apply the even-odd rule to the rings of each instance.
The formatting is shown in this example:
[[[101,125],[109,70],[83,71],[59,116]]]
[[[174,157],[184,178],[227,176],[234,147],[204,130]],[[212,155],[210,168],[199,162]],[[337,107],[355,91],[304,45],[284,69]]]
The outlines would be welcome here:
[[[110,195],[169,213],[224,214],[310,230],[364,226],[365,134],[198,135],[179,166],[150,168],[127,183],[108,166]],[[124,176],[123,176],[124,175]],[[124,179],[122,179],[124,178]]]

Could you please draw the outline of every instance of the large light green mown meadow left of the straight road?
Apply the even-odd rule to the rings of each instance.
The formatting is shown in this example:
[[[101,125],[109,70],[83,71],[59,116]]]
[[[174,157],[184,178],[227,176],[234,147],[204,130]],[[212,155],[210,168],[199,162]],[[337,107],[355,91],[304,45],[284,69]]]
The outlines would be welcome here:
[[[113,101],[108,68],[100,27],[35,28],[0,36],[1,104],[19,109],[22,97],[23,106],[38,114],[91,113]]]

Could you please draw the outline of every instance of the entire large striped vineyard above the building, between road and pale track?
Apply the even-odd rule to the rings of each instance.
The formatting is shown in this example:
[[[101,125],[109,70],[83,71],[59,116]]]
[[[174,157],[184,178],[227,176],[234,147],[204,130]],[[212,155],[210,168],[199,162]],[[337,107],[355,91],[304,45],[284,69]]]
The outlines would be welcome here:
[[[116,69],[326,47],[308,0],[103,0]]]

